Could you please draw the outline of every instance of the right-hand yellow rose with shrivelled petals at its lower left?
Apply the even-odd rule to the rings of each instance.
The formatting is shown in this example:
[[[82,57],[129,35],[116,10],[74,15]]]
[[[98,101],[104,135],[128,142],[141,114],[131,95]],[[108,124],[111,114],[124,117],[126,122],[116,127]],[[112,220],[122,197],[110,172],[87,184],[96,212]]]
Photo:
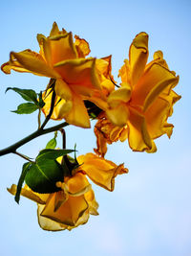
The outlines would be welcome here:
[[[154,139],[164,133],[168,137],[172,134],[173,125],[168,124],[167,119],[173,112],[173,105],[180,100],[173,91],[179,77],[169,70],[160,51],[146,65],[147,58],[148,35],[140,33],[131,44],[129,60],[125,59],[119,70],[121,87],[108,97],[109,121],[99,120],[96,125],[96,151],[100,154],[103,151],[102,155],[106,142],[123,141],[126,137],[133,151],[153,152],[157,150]]]

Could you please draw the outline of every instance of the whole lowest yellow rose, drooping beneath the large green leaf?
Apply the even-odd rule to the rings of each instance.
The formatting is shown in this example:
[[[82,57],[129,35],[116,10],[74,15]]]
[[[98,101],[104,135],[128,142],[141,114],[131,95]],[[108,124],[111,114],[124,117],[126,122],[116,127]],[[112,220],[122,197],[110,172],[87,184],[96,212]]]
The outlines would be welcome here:
[[[128,173],[123,164],[116,165],[94,153],[77,157],[79,167],[71,176],[65,176],[64,181],[56,182],[60,191],[52,194],[35,193],[27,185],[21,190],[21,195],[37,202],[38,223],[41,228],[51,231],[72,230],[89,220],[89,216],[98,215],[95,194],[86,175],[97,185],[113,191],[115,177]],[[8,191],[15,195],[16,185]]]

